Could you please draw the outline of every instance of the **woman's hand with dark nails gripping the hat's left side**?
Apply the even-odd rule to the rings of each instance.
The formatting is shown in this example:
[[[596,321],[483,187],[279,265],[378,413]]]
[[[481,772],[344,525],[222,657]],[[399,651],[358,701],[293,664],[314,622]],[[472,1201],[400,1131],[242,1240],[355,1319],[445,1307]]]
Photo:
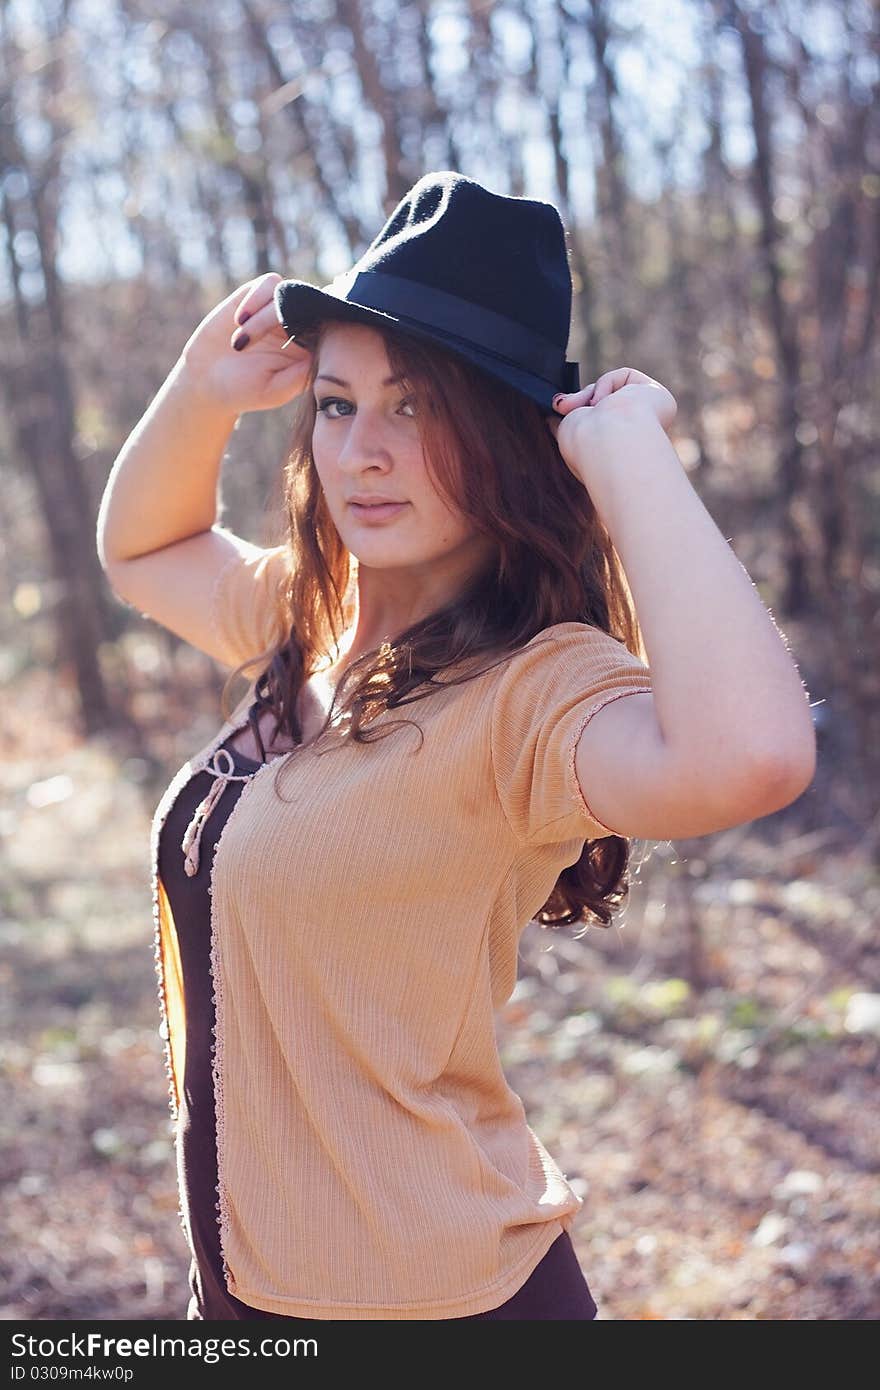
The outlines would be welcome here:
[[[204,395],[232,414],[274,410],[299,396],[306,385],[311,353],[289,343],[274,304],[277,271],[249,279],[227,295],[190,335],[181,353],[181,368]],[[246,322],[239,328],[242,314]],[[232,342],[247,334],[241,350]]]

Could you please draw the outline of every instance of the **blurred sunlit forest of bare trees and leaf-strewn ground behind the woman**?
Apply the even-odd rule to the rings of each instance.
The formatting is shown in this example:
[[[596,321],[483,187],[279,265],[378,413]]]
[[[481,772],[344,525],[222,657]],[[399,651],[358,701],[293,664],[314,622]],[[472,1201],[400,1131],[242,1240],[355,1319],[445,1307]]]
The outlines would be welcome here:
[[[213,304],[325,284],[435,168],[559,207],[569,354],[676,395],[820,749],[635,844],[610,930],[525,930],[507,1076],[603,1318],[880,1315],[879,75],[869,0],[0,0],[4,1318],[188,1300],[147,841],[227,671],[110,591],[110,467]],[[253,541],[289,421],[229,441]]]

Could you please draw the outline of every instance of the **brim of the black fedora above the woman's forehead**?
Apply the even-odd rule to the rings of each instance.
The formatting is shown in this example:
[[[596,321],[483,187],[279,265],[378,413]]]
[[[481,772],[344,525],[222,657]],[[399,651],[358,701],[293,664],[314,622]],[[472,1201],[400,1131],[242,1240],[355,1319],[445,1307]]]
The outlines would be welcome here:
[[[274,303],[278,322],[289,336],[314,328],[324,318],[399,328],[414,338],[446,348],[471,366],[480,367],[491,377],[503,381],[507,386],[513,386],[514,391],[520,391],[548,414],[553,413],[553,396],[557,395],[559,386],[552,381],[545,381],[544,377],[535,377],[531,373],[523,371],[514,363],[509,363],[503,357],[496,357],[494,353],[482,352],[480,348],[474,348],[464,339],[456,338],[453,334],[446,334],[439,328],[427,328],[417,320],[407,318],[403,314],[388,314],[381,309],[370,309],[367,304],[341,299],[338,295],[320,289],[317,285],[310,285],[303,279],[279,281],[275,285]]]

